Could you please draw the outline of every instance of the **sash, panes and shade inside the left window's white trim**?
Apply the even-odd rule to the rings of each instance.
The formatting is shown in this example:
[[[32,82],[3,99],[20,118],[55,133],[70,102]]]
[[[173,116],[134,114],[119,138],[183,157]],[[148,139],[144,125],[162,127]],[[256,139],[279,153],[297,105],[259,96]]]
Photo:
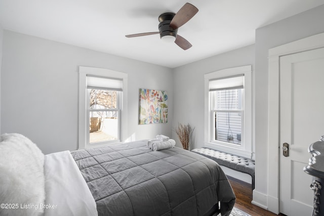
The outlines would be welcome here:
[[[122,91],[121,79],[87,75],[89,144],[120,141],[119,116]]]

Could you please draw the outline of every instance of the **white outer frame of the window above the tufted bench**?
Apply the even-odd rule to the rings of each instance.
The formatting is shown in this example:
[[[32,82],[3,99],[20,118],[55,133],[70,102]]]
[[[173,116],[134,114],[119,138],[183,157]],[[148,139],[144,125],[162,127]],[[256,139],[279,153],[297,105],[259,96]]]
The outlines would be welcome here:
[[[241,128],[241,145],[212,141],[212,110],[209,82],[229,76],[244,75],[244,118]],[[252,158],[252,66],[227,68],[205,74],[205,147]]]

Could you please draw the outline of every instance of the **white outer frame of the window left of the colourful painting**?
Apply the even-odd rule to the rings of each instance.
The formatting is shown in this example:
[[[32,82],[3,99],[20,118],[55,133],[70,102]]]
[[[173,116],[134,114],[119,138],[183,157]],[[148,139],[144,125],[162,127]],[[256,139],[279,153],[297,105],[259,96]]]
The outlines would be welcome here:
[[[93,143],[89,144],[89,119],[88,119],[88,95],[87,95],[87,75],[117,78],[123,80],[123,92],[120,96],[120,125],[119,136],[120,140],[108,143]],[[127,93],[128,93],[128,74],[114,70],[79,66],[79,113],[78,113],[78,149],[84,149],[99,145],[116,144],[126,140],[127,136]],[[88,123],[87,123],[88,122]]]

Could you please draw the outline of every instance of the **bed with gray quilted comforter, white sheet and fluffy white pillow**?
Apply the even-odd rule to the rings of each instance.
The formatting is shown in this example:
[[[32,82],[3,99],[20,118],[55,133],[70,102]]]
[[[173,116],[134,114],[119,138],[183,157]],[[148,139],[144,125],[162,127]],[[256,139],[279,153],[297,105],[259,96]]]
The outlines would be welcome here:
[[[42,158],[39,149],[33,154],[25,153],[32,149],[30,146],[34,148],[36,145],[22,135],[1,136],[1,141],[1,153],[12,151],[7,146],[20,142],[14,150],[28,144],[22,154]],[[8,142],[10,145],[7,145]],[[30,199],[30,196],[26,199],[22,196],[14,197],[17,186],[12,187],[10,181],[5,181],[0,193],[8,193],[6,197],[10,199],[1,197],[0,202],[25,203],[30,204],[31,208],[0,208],[0,214],[229,215],[235,203],[235,195],[215,161],[177,147],[152,151],[146,147],[146,142],[143,140],[45,155],[44,170],[41,170],[44,173],[44,184],[34,184],[42,179],[41,172],[35,175],[39,170],[33,169],[27,174],[19,170],[18,174],[24,182],[27,181],[24,183],[27,188],[21,195],[38,189],[38,186],[44,187],[44,194],[39,190],[41,195],[38,199]],[[6,169],[4,167],[8,167],[4,161],[0,159],[1,172]],[[18,161],[17,164],[23,166],[22,162]],[[42,169],[42,161],[39,164]],[[13,167],[11,169],[11,173],[16,172]],[[3,183],[0,176],[0,184]]]

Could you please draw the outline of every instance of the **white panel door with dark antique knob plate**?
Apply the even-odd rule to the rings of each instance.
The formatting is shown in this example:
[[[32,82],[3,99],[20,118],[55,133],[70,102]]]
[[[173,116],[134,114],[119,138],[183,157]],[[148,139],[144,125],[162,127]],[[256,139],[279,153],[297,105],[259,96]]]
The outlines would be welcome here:
[[[280,212],[311,215],[308,146],[324,135],[324,48],[280,57]],[[283,143],[289,156],[282,155]]]

